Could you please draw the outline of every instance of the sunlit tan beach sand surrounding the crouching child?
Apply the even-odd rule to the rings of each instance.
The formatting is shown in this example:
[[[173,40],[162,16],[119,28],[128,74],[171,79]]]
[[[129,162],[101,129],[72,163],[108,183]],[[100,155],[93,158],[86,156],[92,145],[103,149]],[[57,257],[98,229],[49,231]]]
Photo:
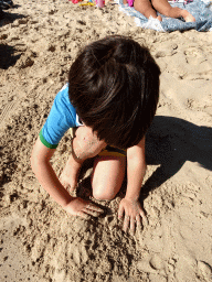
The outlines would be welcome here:
[[[212,281],[212,33],[141,30],[113,4],[15,4],[0,22],[0,281]],[[107,34],[145,43],[161,67],[141,192],[149,225],[135,237],[117,219],[124,191],[102,203],[105,217],[85,221],[62,210],[30,167],[78,47]],[[64,137],[59,173],[68,153]]]

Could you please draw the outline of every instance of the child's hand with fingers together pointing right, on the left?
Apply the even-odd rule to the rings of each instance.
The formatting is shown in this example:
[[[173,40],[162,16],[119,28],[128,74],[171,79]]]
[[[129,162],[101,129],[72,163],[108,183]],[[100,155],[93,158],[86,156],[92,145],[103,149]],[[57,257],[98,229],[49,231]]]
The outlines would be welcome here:
[[[73,216],[81,216],[87,218],[87,216],[97,217],[104,213],[104,210],[88,200],[84,200],[80,197],[72,199],[64,209]]]

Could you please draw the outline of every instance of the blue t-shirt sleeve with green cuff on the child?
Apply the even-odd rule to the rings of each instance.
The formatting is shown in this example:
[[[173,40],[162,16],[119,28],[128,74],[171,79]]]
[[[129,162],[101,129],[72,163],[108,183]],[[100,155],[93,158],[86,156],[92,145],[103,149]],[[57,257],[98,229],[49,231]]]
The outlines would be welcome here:
[[[55,149],[67,129],[76,127],[76,110],[68,98],[68,86],[56,95],[50,115],[40,132],[41,142]]]

